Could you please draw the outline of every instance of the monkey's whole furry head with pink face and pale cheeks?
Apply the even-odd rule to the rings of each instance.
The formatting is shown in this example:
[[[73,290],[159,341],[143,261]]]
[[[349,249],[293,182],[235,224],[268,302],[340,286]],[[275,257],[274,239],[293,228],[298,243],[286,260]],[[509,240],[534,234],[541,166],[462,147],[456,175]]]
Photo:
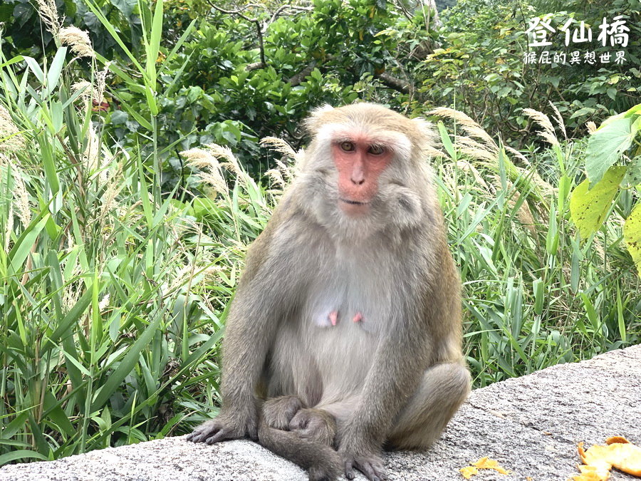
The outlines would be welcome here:
[[[381,105],[324,107],[306,121],[313,141],[301,166],[301,202],[340,237],[416,225],[429,183],[429,125]]]

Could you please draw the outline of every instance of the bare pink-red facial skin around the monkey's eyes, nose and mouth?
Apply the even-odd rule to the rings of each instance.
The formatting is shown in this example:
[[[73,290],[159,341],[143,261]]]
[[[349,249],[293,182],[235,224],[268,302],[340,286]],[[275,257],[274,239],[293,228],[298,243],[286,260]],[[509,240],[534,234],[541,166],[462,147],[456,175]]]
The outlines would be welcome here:
[[[378,192],[378,176],[392,160],[392,151],[365,135],[345,135],[332,144],[338,170],[339,206],[345,214],[366,214]]]

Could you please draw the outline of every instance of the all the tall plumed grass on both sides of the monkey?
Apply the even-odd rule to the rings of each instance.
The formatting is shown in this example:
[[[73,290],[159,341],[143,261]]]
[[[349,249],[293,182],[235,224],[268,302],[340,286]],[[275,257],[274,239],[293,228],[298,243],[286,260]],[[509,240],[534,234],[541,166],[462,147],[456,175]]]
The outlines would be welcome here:
[[[219,401],[218,341],[246,246],[278,195],[214,145],[182,153],[206,195],[161,192],[161,152],[120,148],[93,103],[109,76],[144,92],[144,109],[124,95],[120,106],[140,125],[139,145],[159,144],[162,1],[140,2],[141,61],[92,4],[127,69],[62,29],[52,1],[39,4],[56,55],[0,58],[0,465],[202,420]],[[523,155],[460,113],[435,114],[466,134],[452,140],[440,125],[447,157],[434,167],[475,386],[639,342],[640,283],[618,223],[630,199],[617,200],[587,244],[569,221],[583,143],[559,142],[548,119],[551,148]],[[277,185],[288,180],[281,167],[269,172]]]

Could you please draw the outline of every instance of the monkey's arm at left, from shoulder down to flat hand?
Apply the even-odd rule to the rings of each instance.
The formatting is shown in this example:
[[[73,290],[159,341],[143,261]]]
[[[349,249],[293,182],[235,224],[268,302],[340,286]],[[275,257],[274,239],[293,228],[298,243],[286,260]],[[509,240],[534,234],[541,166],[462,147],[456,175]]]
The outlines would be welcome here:
[[[252,244],[246,268],[226,319],[222,343],[222,406],[217,418],[208,420],[188,436],[195,443],[225,439],[256,439],[258,413],[255,391],[278,322],[291,309],[291,267],[279,252],[282,215],[276,212],[264,232]]]

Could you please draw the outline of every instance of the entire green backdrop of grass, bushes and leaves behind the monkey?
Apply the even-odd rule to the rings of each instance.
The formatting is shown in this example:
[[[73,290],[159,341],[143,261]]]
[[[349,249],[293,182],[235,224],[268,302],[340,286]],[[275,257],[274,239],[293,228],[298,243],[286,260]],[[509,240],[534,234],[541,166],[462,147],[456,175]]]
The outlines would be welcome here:
[[[322,103],[437,125],[475,386],[641,342],[638,1],[411,3],[0,6],[0,465],[217,405],[226,306],[293,171],[259,140],[303,147]],[[570,11],[624,15],[629,61],[524,63],[528,19]]]

